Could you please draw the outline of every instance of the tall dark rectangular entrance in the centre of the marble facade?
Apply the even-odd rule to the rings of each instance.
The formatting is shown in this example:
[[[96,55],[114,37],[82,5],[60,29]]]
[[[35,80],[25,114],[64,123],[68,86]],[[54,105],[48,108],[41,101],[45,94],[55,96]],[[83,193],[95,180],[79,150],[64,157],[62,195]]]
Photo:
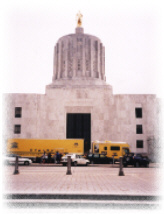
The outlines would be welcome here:
[[[67,114],[67,138],[84,139],[84,152],[91,145],[91,114]]]

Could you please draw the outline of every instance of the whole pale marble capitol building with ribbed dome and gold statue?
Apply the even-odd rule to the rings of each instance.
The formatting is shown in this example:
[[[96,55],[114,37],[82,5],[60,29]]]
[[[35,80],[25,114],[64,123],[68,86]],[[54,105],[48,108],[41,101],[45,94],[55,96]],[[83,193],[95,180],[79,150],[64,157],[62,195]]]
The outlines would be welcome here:
[[[85,152],[95,140],[124,141],[132,152],[153,158],[159,137],[156,95],[113,94],[105,76],[105,44],[84,33],[81,21],[79,15],[75,33],[54,46],[45,94],[4,95],[5,140],[82,138]]]

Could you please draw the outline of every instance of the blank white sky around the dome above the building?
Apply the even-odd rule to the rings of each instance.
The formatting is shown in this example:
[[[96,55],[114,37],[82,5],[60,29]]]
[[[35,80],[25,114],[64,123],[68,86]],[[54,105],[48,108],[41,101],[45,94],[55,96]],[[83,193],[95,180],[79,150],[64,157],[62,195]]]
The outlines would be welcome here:
[[[53,75],[58,39],[75,32],[83,14],[84,33],[105,46],[106,81],[114,94],[162,97],[162,1],[15,0],[1,7],[1,90],[45,93]]]

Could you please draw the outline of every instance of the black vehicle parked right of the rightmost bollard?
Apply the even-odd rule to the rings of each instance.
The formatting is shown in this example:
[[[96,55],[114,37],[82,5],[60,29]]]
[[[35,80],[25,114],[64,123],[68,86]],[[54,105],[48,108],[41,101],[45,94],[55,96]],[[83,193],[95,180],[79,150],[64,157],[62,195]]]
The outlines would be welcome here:
[[[132,165],[135,167],[149,167],[149,158],[144,154],[128,153],[123,157],[123,165],[124,167],[128,165]]]

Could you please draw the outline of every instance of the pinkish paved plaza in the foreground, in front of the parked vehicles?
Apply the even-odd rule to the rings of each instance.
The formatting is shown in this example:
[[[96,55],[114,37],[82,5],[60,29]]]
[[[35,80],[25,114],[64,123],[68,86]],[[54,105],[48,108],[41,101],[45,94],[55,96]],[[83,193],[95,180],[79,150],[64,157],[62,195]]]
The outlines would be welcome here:
[[[105,204],[105,207],[113,208],[113,204],[124,207],[128,201],[128,206],[156,207],[160,201],[158,196],[162,194],[162,171],[153,165],[150,168],[124,168],[125,176],[118,176],[119,168],[111,165],[72,167],[72,175],[66,175],[66,171],[67,167],[59,165],[33,165],[21,166],[20,173],[13,175],[14,166],[5,166],[3,192],[6,200],[11,207],[14,204],[27,206],[27,200],[32,204],[34,199],[35,205],[39,206],[64,204],[69,207],[76,203],[79,206]]]

